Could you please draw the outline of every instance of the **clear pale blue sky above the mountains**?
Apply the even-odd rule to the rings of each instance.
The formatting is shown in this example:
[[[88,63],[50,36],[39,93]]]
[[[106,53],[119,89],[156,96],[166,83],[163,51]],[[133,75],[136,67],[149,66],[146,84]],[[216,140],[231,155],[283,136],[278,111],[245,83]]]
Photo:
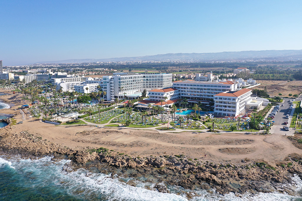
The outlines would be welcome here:
[[[3,65],[302,49],[302,1],[0,1]]]

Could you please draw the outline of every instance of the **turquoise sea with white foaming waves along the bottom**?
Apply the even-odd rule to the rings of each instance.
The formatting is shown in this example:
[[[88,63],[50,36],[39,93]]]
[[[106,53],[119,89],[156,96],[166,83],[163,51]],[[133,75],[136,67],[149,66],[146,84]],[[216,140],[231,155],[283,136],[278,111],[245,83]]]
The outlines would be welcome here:
[[[0,200],[189,200],[186,193],[196,193],[190,200],[292,200],[301,201],[301,196],[289,196],[278,192],[246,193],[239,197],[234,193],[219,195],[206,190],[185,190],[177,186],[168,186],[171,193],[159,193],[148,190],[146,185],[155,184],[123,178],[125,182],[133,180],[135,186],[128,185],[117,178],[111,178],[98,172],[78,169],[69,171],[69,160],[53,161],[50,156],[40,159],[21,159],[18,156],[0,155]],[[285,185],[285,184],[284,184]],[[292,184],[298,193],[302,192],[302,181],[293,177]],[[301,195],[301,194],[300,194]]]

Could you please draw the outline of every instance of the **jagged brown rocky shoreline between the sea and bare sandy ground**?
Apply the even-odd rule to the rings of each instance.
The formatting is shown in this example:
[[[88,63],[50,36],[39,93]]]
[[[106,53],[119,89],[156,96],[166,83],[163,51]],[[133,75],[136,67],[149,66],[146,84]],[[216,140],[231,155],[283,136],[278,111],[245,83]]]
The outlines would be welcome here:
[[[97,169],[111,177],[146,177],[156,183],[150,190],[169,193],[165,185],[181,186],[185,189],[215,189],[225,193],[275,192],[295,195],[289,186],[297,174],[302,179],[302,156],[289,155],[284,162],[272,167],[263,161],[245,161],[241,164],[213,163],[199,159],[188,159],[184,155],[160,155],[130,157],[110,152],[108,149],[91,147],[69,148],[36,137],[28,131],[15,133],[11,126],[0,131],[0,154],[21,155],[35,159],[52,155],[53,160],[70,159],[73,170]],[[89,173],[87,174],[89,176]],[[131,182],[129,183],[130,185]],[[194,195],[188,195],[188,198]]]

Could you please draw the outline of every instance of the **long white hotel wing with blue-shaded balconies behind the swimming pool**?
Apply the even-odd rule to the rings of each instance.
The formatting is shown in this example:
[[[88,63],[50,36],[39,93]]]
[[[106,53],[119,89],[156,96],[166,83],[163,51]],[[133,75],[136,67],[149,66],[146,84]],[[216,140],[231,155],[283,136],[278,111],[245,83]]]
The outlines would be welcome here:
[[[179,90],[179,98],[188,99],[188,102],[208,104],[213,101],[214,95],[225,91],[236,91],[237,84],[231,81],[202,82],[181,80],[173,82],[173,88]]]

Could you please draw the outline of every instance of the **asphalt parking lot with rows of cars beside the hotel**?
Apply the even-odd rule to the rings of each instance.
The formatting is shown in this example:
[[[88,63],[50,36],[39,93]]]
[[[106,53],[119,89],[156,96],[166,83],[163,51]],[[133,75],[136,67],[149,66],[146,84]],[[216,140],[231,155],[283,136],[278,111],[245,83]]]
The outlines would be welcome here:
[[[290,104],[291,104],[291,103],[288,102],[288,100],[290,100],[290,99],[284,99],[284,102],[279,104],[279,105],[284,104],[284,106],[280,106],[280,109],[276,113],[275,118],[273,119],[273,121],[275,121],[275,123],[271,127],[270,133],[280,134],[280,135],[285,135],[286,134],[288,136],[293,136],[294,135],[294,129],[293,128],[289,128],[289,131],[286,131],[286,130],[283,129],[283,126],[285,126],[284,122],[288,122],[288,126],[291,124],[291,118],[294,114],[294,110],[295,110],[295,107],[296,107],[296,104],[294,104],[293,109],[291,110],[291,113],[290,113],[290,117],[287,119],[286,115],[288,114],[288,108],[290,107]],[[270,112],[268,112],[268,114]]]

